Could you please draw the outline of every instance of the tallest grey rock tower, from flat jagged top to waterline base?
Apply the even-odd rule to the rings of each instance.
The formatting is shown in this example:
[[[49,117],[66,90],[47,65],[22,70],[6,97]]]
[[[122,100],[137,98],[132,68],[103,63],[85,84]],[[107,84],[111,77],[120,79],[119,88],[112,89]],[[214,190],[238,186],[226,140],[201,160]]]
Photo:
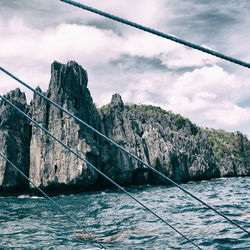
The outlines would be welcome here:
[[[52,64],[46,95],[91,126],[100,127],[98,111],[87,89],[86,71],[75,62]],[[98,143],[85,127],[39,96],[34,96],[31,114],[67,146],[97,164]],[[95,183],[96,173],[92,169],[33,125],[30,149],[29,176],[38,186],[60,188],[62,185],[90,186]]]

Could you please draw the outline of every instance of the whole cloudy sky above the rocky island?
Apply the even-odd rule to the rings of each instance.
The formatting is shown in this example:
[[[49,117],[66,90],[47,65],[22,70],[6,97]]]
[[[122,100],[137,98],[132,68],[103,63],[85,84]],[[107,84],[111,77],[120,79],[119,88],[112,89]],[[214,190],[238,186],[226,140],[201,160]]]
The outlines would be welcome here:
[[[250,62],[248,0],[78,0],[186,41]],[[201,127],[250,138],[250,70],[105,19],[59,0],[0,1],[0,65],[48,89],[53,61],[88,72],[98,107],[161,106]],[[0,94],[21,85],[0,73]]]

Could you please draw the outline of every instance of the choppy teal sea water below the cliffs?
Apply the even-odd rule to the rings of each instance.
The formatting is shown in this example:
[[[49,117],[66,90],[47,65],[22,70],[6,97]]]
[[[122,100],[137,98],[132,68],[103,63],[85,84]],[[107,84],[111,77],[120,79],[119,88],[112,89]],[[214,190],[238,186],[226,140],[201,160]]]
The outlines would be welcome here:
[[[250,230],[250,177],[183,185]],[[127,188],[203,249],[250,249],[250,237],[176,187]],[[116,190],[54,197],[106,249],[193,249],[172,229]],[[0,249],[98,249],[41,197],[0,198]]]

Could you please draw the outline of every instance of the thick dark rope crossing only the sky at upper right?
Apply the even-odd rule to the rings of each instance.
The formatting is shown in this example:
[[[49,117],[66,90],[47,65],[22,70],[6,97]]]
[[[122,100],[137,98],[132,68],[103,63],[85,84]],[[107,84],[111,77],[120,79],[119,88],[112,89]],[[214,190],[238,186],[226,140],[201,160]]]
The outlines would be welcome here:
[[[145,31],[145,32],[149,32],[149,33],[151,33],[151,34],[154,34],[154,35],[156,35],[156,36],[160,36],[160,37],[166,38],[166,39],[168,39],[168,40],[174,41],[174,42],[176,42],[176,43],[180,43],[180,44],[185,45],[185,46],[187,46],[187,47],[190,47],[190,48],[192,48],[192,49],[196,49],[196,50],[202,51],[202,52],[204,52],[204,53],[210,54],[210,55],[212,55],[212,56],[219,57],[219,58],[221,58],[221,59],[224,59],[224,60],[226,60],[226,61],[229,61],[229,62],[238,64],[238,65],[241,65],[241,66],[243,66],[243,67],[250,68],[250,63],[241,61],[241,60],[239,60],[239,59],[236,59],[236,58],[233,58],[233,57],[230,57],[230,56],[226,56],[226,55],[224,55],[224,54],[222,54],[222,53],[219,53],[219,52],[217,52],[217,51],[214,51],[214,50],[211,50],[211,49],[202,47],[202,46],[200,46],[200,45],[197,45],[197,44],[194,44],[194,43],[185,41],[185,40],[180,39],[180,38],[178,38],[178,37],[175,37],[175,36],[172,36],[172,35],[168,35],[168,34],[166,34],[166,33],[163,33],[163,32],[160,32],[160,31],[157,31],[157,30],[154,30],[154,29],[145,27],[145,26],[143,26],[143,25],[140,25],[140,24],[137,24],[137,23],[128,21],[127,19],[124,19],[124,18],[121,18],[121,17],[118,17],[118,16],[114,16],[114,15],[112,15],[112,14],[108,14],[108,13],[103,12],[103,11],[101,11],[101,10],[94,9],[94,8],[92,8],[92,7],[86,6],[86,5],[84,5],[84,4],[81,4],[81,3],[78,3],[78,2],[75,2],[75,1],[71,1],[71,0],[60,0],[60,1],[61,1],[61,2],[64,2],[64,3],[67,3],[67,4],[70,4],[70,5],[73,5],[73,6],[76,6],[76,7],[78,7],[78,8],[84,9],[84,10],[93,12],[93,13],[95,13],[95,14],[98,14],[98,15],[101,15],[101,16],[104,16],[104,17],[107,17],[107,18],[112,19],[112,20],[114,20],[114,21],[117,21],[117,22],[120,22],[120,23],[129,25],[129,26],[132,26],[132,27],[134,27],[134,28],[136,28],[136,29],[140,29],[140,30],[143,30],[143,31]]]

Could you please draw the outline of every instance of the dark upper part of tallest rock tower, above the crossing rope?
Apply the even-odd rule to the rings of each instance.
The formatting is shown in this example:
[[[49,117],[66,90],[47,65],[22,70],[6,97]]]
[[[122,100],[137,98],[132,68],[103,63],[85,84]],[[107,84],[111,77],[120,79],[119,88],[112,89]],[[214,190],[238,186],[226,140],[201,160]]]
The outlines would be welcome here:
[[[87,72],[76,62],[53,62],[47,96],[84,121],[97,126],[98,112],[87,88]],[[55,110],[58,113],[58,110]],[[55,115],[53,115],[55,117]],[[53,118],[51,117],[51,118]]]

